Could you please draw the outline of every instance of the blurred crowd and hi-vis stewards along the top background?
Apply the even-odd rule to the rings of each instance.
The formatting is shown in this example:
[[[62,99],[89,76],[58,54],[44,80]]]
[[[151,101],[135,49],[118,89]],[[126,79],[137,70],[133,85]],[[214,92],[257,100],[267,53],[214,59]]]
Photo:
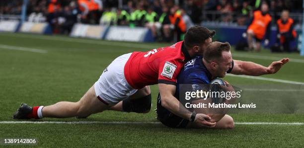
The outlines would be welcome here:
[[[182,39],[187,28],[204,21],[248,25],[262,2],[276,22],[282,10],[303,13],[303,0],[29,0],[27,16],[43,16],[54,33],[68,34],[77,22],[148,27],[156,40]],[[23,0],[0,0],[0,14],[21,13]],[[31,17],[33,16],[33,17]],[[297,23],[297,19],[295,19]]]

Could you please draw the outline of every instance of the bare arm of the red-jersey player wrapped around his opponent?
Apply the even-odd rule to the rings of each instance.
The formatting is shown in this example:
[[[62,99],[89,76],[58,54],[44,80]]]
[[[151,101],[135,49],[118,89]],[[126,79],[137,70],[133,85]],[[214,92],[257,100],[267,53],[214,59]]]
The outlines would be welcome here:
[[[177,116],[191,121],[190,118],[192,113],[184,108],[183,105],[180,104],[180,102],[173,96],[176,90],[175,85],[159,83],[158,89],[161,98],[161,105],[164,108]],[[197,114],[194,122],[200,123],[206,127],[214,127],[216,125],[216,122],[209,122],[207,120],[211,120],[211,117],[205,114]]]

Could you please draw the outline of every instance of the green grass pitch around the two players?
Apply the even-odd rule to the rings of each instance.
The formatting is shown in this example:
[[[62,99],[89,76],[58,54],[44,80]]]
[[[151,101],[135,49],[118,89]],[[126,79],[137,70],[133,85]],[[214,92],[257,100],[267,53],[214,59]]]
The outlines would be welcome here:
[[[149,51],[168,45],[0,33],[0,121],[13,121],[12,114],[22,102],[29,105],[50,105],[62,100],[78,101],[116,57],[133,51]],[[30,49],[45,50],[47,53],[29,52]],[[273,59],[296,59],[285,65],[278,74],[262,77],[304,82],[304,57],[299,54],[272,54],[268,50],[263,50],[261,53],[233,51],[232,56],[236,60],[252,61],[264,66],[268,66]],[[231,84],[279,83],[233,76],[226,76],[225,80]],[[154,109],[157,86],[153,85],[151,89]],[[231,116],[238,123],[304,123],[304,114],[297,112],[236,113]],[[39,121],[157,122],[154,110],[147,114],[105,111],[91,115],[87,119],[49,118]],[[0,124],[1,138],[36,138],[38,147],[303,148],[304,125],[236,124],[233,130],[198,130],[172,129],[161,124],[149,123]]]

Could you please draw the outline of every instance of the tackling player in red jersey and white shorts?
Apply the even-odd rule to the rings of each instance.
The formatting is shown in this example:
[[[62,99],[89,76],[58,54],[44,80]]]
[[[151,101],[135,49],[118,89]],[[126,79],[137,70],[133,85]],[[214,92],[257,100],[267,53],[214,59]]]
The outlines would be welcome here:
[[[205,114],[196,114],[195,119],[191,119],[192,113],[179,108],[180,103],[173,96],[176,77],[183,65],[195,56],[202,56],[203,49],[212,42],[214,35],[215,31],[194,26],[186,32],[184,41],[172,46],[122,55],[103,71],[78,102],[34,107],[22,103],[13,119],[82,118],[108,109],[146,113],[151,109],[149,85],[158,84],[163,107],[184,119],[214,127],[216,123],[209,122],[211,118]],[[271,68],[264,67],[261,74],[276,73],[281,66],[277,62]],[[237,69],[242,72],[241,67]]]

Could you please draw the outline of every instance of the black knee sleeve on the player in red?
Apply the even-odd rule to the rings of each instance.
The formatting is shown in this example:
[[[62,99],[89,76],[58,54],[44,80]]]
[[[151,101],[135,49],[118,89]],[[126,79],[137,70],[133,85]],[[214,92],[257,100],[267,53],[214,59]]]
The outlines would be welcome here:
[[[151,94],[138,99],[125,99],[123,100],[123,111],[148,113],[151,110]]]

